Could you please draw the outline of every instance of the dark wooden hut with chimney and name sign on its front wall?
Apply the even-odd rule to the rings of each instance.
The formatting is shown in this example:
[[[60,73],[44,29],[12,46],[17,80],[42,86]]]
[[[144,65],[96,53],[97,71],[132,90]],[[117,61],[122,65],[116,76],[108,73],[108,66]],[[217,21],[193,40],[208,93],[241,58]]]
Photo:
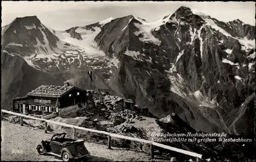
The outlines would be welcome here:
[[[59,109],[86,103],[87,91],[65,82],[63,86],[41,85],[25,97],[12,99],[13,111],[30,112],[59,112]]]

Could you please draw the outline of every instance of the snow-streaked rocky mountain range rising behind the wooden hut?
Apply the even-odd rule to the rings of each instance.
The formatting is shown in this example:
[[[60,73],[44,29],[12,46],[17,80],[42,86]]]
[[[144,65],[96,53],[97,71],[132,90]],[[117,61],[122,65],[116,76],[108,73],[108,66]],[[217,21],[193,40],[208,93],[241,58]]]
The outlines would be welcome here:
[[[129,15],[66,31],[47,28],[32,16],[2,29],[2,60],[18,57],[35,73],[84,89],[112,89],[157,117],[175,112],[197,131],[252,134],[254,38],[254,26],[218,21],[186,7],[155,22]],[[2,72],[10,68],[2,63]],[[93,82],[87,71],[93,71]],[[12,73],[20,75],[18,69]],[[3,75],[2,80],[27,84]],[[3,97],[4,106],[21,94]]]

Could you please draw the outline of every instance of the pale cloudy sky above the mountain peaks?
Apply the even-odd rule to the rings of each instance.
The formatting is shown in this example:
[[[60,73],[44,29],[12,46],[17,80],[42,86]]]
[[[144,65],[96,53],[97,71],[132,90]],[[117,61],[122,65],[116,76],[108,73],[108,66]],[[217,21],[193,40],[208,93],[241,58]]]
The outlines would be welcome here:
[[[240,19],[255,26],[254,2],[60,2],[4,1],[2,27],[16,17],[36,15],[42,24],[55,30],[86,26],[103,19],[134,15],[146,21],[156,21],[174,13],[180,6],[198,10],[227,22]]]

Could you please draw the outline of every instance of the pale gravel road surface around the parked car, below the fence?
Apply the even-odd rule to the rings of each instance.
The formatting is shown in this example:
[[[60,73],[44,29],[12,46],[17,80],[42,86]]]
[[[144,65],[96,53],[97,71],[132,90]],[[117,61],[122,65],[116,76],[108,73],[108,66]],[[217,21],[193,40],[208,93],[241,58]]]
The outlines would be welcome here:
[[[43,129],[32,130],[30,126],[20,126],[4,120],[1,126],[1,160],[62,161],[58,157],[37,153],[36,146],[41,140],[49,139],[52,135],[52,133],[45,133]],[[85,143],[85,145],[91,153],[87,158],[88,161],[152,161],[150,153],[128,151],[114,147],[109,150],[107,146],[96,143]],[[156,157],[154,161],[166,161],[166,159]]]

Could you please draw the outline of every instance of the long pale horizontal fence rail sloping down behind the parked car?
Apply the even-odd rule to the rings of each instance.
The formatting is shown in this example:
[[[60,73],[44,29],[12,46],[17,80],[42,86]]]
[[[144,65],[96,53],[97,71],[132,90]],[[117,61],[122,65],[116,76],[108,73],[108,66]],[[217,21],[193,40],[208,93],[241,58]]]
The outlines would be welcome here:
[[[47,119],[31,117],[31,116],[28,116],[28,115],[25,115],[25,114],[11,112],[11,111],[7,111],[7,110],[1,110],[1,111],[2,111],[2,114],[1,114],[2,117],[3,117],[3,112],[4,113],[9,113],[9,114],[17,115],[19,117],[25,117],[25,118],[35,119],[35,120],[39,120],[39,121],[45,121],[47,123],[57,124],[57,125],[61,125],[61,126],[65,126],[65,127],[69,127],[69,128],[73,128],[73,129],[86,130],[86,131],[90,131],[90,132],[95,132],[95,133],[101,133],[101,134],[109,135],[110,137],[117,137],[117,138],[122,138],[122,139],[125,139],[125,140],[131,140],[131,141],[151,144],[151,145],[154,145],[154,146],[157,146],[157,147],[161,147],[161,148],[164,148],[164,149],[167,149],[167,150],[179,152],[179,153],[186,154],[186,155],[189,155],[189,156],[194,156],[194,157],[202,158],[202,154],[198,154],[198,153],[195,153],[195,152],[190,152],[190,151],[178,149],[178,148],[175,148],[175,147],[159,144],[159,143],[156,143],[156,142],[153,142],[153,141],[143,140],[143,139],[140,139],[140,138],[135,138],[135,137],[130,137],[130,136],[124,136],[124,135],[120,135],[120,134],[109,133],[109,132],[95,130],[95,129],[78,127],[78,126],[74,126],[74,125],[70,125],[70,124],[65,124],[65,123],[60,123],[60,122],[55,122],[55,121],[47,120]]]

